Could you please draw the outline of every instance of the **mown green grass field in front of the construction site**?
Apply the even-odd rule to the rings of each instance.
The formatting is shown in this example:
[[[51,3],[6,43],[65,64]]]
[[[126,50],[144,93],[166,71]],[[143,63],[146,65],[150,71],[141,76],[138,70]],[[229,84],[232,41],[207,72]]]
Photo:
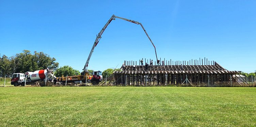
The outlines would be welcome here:
[[[256,88],[0,87],[0,126],[256,126]]]

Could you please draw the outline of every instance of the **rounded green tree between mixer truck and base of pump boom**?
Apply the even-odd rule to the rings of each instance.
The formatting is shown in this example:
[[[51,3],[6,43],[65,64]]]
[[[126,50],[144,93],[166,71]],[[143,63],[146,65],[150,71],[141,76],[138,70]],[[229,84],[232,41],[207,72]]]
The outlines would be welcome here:
[[[73,75],[80,75],[80,72],[78,70],[73,69],[70,66],[63,66],[58,68],[55,72],[54,75],[56,77],[62,77],[63,76],[73,76]]]

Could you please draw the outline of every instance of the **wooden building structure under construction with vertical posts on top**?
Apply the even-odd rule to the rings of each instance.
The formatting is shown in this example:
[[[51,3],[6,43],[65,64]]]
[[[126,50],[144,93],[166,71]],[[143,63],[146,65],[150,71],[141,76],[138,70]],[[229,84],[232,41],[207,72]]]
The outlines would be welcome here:
[[[141,61],[141,60],[140,60]],[[146,59],[145,59],[146,61]],[[150,60],[149,60],[150,61]],[[232,86],[238,71],[228,71],[215,61],[161,61],[148,66],[141,62],[124,61],[121,71],[114,71],[109,85],[116,86]],[[145,63],[145,62],[144,62]],[[147,61],[148,63],[148,61]],[[245,83],[246,84],[246,83]],[[240,84],[241,85],[241,84]]]

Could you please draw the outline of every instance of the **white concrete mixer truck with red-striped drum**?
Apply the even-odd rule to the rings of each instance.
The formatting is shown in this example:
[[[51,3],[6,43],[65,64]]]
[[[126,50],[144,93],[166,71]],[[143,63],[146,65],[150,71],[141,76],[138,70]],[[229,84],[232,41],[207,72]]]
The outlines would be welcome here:
[[[53,75],[53,70],[45,69],[38,70],[35,72],[14,73],[11,79],[11,84],[14,86],[24,86],[25,81],[36,82],[36,81],[53,81],[56,77]],[[50,80],[49,80],[50,79]]]

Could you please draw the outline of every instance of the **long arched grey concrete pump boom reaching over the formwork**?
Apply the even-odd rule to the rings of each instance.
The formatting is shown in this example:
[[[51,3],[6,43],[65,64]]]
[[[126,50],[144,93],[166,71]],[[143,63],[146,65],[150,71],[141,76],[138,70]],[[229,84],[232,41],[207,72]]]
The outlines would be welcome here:
[[[105,29],[107,28],[107,26],[109,25],[109,23],[110,23],[112,20],[115,20],[115,18],[123,19],[123,20],[129,21],[129,22],[135,23],[135,24],[140,24],[141,27],[142,27],[142,29],[143,29],[144,32],[146,33],[148,39],[149,39],[150,42],[153,44],[153,46],[154,46],[154,48],[155,48],[155,52],[156,52],[156,57],[157,57],[156,47],[155,47],[154,43],[152,42],[152,40],[150,39],[150,37],[148,36],[148,34],[147,34],[146,30],[144,29],[143,25],[142,25],[140,22],[137,22],[137,21],[133,21],[133,20],[130,20],[130,19],[126,19],[126,18],[122,18],[122,17],[118,17],[118,16],[115,16],[115,15],[112,15],[112,17],[109,19],[109,21],[108,21],[108,22],[105,24],[105,26],[101,29],[101,31],[99,32],[99,34],[96,35],[97,37],[96,37],[95,42],[94,42],[94,44],[93,44],[93,48],[92,48],[92,50],[91,50],[91,52],[90,52],[90,54],[89,54],[89,56],[88,56],[88,58],[87,58],[87,61],[86,61],[85,65],[84,65],[84,68],[83,68],[83,71],[84,71],[84,72],[87,71],[86,67],[88,66],[88,63],[89,63],[89,61],[90,61],[90,58],[91,58],[92,53],[93,53],[93,51],[94,51],[94,48],[95,48],[95,47],[97,46],[97,44],[99,43],[99,40],[100,40],[100,38],[101,38],[102,33],[105,31]],[[158,59],[157,59],[157,60],[158,60]]]

